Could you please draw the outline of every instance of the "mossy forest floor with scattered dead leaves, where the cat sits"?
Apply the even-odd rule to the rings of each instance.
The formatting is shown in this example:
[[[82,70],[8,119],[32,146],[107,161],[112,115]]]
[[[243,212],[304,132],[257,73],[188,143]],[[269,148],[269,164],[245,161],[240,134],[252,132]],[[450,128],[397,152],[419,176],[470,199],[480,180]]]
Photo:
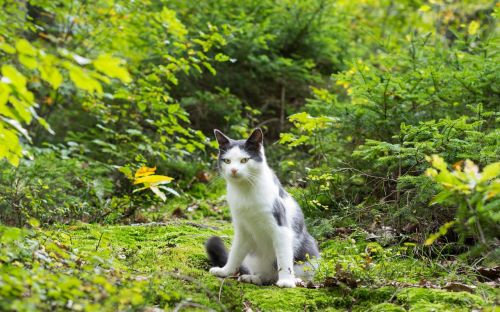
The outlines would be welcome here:
[[[500,294],[459,260],[426,260],[413,244],[382,247],[362,232],[321,242],[322,264],[310,288],[280,289],[208,273],[203,243],[218,235],[229,245],[227,221],[82,223],[43,231],[81,254],[115,259],[115,269],[142,288],[123,300],[135,298],[146,311],[494,311]]]

